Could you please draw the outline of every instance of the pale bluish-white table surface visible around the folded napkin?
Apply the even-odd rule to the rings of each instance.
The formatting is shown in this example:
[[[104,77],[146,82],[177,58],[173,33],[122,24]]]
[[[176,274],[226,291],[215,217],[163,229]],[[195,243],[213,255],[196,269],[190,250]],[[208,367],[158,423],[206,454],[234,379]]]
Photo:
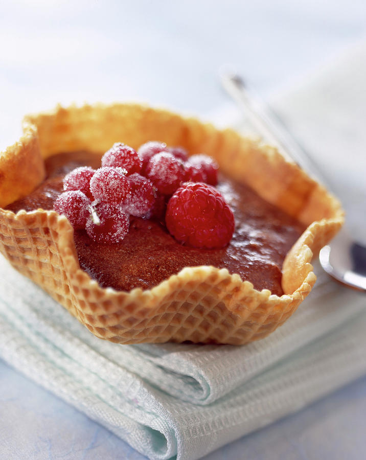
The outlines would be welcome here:
[[[220,65],[270,97],[365,33],[364,0],[0,4],[0,149],[25,113],[58,102],[138,100],[209,118],[231,108]],[[363,459],[365,413],[366,377],[205,458]],[[0,458],[145,457],[0,360]]]

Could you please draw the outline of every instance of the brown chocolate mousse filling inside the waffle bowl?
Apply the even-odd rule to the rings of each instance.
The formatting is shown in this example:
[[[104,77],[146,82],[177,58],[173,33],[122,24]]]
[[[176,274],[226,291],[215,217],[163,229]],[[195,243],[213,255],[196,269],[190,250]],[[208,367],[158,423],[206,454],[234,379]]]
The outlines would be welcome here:
[[[62,179],[79,166],[100,167],[101,155],[89,152],[59,153],[45,160],[47,177],[23,199],[7,206],[17,212],[52,210],[62,193]],[[197,249],[178,243],[164,222],[130,218],[127,236],[120,243],[97,243],[84,230],[74,233],[80,267],[102,287],[129,291],[149,289],[188,266],[213,265],[238,273],[258,290],[282,295],[281,267],[305,227],[249,187],[219,176],[217,189],[230,204],[235,232],[222,249]]]

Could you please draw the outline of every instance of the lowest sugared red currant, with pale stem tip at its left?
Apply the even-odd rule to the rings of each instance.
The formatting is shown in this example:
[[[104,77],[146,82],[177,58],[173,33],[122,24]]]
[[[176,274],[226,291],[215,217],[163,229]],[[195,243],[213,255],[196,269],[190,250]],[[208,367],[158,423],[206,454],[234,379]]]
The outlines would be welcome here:
[[[86,233],[96,242],[119,243],[128,233],[129,216],[121,206],[110,203],[91,204],[100,220],[95,223],[90,216],[86,221]]]

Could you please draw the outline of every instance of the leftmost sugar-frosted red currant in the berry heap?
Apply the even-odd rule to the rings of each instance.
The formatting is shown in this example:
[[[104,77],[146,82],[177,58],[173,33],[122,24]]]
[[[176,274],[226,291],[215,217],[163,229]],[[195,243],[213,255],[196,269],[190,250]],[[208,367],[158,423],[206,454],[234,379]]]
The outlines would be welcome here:
[[[90,200],[83,192],[71,190],[58,196],[53,209],[57,213],[66,216],[72,226],[77,229],[85,228],[86,219],[90,215],[89,205]]]

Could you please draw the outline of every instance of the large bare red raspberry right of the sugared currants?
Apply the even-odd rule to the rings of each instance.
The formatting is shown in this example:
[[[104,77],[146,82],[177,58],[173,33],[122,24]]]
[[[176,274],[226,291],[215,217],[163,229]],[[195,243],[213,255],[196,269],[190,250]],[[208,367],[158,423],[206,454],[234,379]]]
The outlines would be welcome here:
[[[203,182],[186,182],[170,198],[165,216],[171,235],[198,248],[220,248],[234,233],[234,215],[223,196]]]

